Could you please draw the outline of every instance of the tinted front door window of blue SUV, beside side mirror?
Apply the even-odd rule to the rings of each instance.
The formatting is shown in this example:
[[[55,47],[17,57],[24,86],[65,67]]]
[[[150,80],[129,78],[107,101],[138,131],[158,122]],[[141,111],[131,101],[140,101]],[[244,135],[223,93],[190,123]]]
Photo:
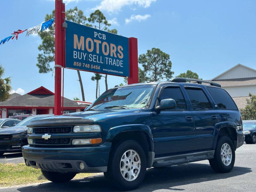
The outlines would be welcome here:
[[[176,110],[187,109],[184,97],[179,87],[166,87],[160,96],[160,102],[163,99],[174,99],[176,101]]]

